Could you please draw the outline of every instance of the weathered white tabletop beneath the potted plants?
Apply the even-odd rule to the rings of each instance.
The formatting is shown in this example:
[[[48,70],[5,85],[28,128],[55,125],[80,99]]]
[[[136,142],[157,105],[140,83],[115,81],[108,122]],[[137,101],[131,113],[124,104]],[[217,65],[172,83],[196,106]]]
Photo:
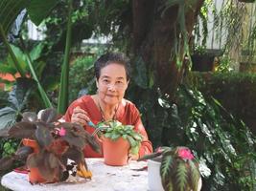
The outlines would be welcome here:
[[[86,159],[93,174],[92,180],[58,182],[31,185],[28,175],[11,172],[3,176],[3,186],[14,191],[147,191],[148,171],[136,171],[147,165],[145,161],[131,161],[128,165],[114,167],[105,165],[103,159]]]

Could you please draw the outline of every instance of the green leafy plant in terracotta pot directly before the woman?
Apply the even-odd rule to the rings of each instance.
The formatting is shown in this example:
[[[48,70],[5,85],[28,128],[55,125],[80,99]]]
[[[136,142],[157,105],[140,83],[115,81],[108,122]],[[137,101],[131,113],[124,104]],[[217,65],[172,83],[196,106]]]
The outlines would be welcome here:
[[[118,120],[100,122],[97,127],[102,132],[105,164],[120,166],[128,163],[128,152],[138,154],[142,136],[132,125],[123,125]]]

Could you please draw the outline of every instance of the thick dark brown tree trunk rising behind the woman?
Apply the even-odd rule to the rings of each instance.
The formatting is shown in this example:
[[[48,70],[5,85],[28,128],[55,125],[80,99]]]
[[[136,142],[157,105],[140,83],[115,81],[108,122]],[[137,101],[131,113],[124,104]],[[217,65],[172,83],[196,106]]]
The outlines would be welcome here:
[[[154,80],[155,86],[173,99],[186,62],[183,57],[184,52],[175,55],[173,49],[176,35],[181,32],[177,27],[179,5],[166,9],[166,2],[166,0],[132,2],[133,53],[141,56],[147,63],[148,69],[153,70],[154,78],[157,79]],[[190,4],[191,7],[185,13],[186,31],[190,39],[203,0],[185,1],[185,4]],[[181,41],[181,46],[183,44],[184,42]],[[183,60],[180,69],[176,65],[175,56]]]

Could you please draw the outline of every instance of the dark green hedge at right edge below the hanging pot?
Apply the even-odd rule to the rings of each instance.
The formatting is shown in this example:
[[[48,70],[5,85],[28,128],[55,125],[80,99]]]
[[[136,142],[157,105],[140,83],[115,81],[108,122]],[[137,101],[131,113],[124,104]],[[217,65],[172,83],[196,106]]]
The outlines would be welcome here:
[[[204,96],[218,99],[256,135],[256,74],[193,73],[187,78]]]

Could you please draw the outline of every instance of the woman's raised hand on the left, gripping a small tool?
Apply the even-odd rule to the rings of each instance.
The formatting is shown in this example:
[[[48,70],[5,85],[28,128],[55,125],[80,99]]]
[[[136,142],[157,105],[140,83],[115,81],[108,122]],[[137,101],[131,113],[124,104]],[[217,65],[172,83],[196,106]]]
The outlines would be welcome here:
[[[77,106],[73,110],[73,114],[71,116],[71,122],[74,122],[83,126],[83,125],[86,125],[88,121],[90,121],[90,118],[88,117],[87,112],[82,110],[80,106]]]

